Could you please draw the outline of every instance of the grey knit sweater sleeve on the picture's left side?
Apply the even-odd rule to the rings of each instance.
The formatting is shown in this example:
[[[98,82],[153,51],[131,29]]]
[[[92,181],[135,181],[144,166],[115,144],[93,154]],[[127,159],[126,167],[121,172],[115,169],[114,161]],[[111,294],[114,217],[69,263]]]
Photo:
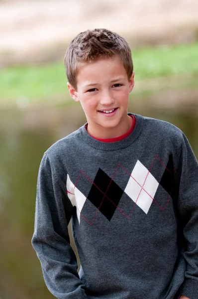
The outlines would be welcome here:
[[[40,260],[46,286],[58,299],[87,298],[70,246],[68,223],[72,210],[73,205],[44,153],[38,172],[32,246]]]

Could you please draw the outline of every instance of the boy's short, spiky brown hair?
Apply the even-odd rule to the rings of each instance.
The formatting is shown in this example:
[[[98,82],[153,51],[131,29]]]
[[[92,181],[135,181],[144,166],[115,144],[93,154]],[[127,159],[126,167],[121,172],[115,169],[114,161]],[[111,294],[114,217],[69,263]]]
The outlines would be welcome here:
[[[119,55],[128,79],[133,73],[131,50],[126,40],[107,29],[97,28],[79,33],[70,43],[64,58],[68,82],[77,90],[77,67],[80,62]]]

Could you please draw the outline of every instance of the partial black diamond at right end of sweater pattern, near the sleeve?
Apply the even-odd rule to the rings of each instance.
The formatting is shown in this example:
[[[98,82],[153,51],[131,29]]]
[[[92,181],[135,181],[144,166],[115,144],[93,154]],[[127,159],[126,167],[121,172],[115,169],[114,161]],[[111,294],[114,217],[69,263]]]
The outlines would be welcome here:
[[[160,185],[171,194],[174,186],[174,173],[173,173],[173,155],[169,155],[168,164],[164,170],[163,176],[160,181]]]

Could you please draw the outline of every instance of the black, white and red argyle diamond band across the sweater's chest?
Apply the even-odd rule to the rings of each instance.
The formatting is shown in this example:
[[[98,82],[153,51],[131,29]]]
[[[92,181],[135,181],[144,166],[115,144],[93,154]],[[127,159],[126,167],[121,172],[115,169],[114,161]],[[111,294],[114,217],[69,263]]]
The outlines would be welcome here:
[[[156,160],[160,161],[160,165],[164,167],[164,173],[160,182],[158,182],[151,174],[153,164]],[[129,176],[124,190],[122,190],[113,180],[113,177],[116,175],[116,171],[119,167],[121,167],[122,170]],[[131,173],[129,173],[121,164],[118,164],[112,177],[109,177],[101,168],[99,168],[94,181],[92,181],[91,178],[88,177],[83,170],[81,170],[75,184],[71,181],[69,174],[67,175],[67,194],[73,206],[77,207],[79,223],[82,216],[89,224],[92,225],[98,212],[102,213],[105,218],[110,221],[116,209],[118,209],[126,218],[130,218],[136,205],[146,214],[149,212],[153,202],[157,204],[161,210],[164,210],[167,207],[173,190],[174,171],[172,155],[169,156],[166,166],[158,155],[155,155],[149,169],[137,160]],[[82,177],[84,179],[86,178],[89,183],[91,182],[91,189],[88,196],[85,196],[78,188]],[[154,198],[159,186],[164,188],[164,190],[169,194],[164,207],[161,207]],[[134,202],[132,210],[129,211],[128,215],[119,208],[119,201],[123,193],[125,193]],[[86,200],[89,200],[97,208],[96,215],[92,220],[86,219],[81,214]]]

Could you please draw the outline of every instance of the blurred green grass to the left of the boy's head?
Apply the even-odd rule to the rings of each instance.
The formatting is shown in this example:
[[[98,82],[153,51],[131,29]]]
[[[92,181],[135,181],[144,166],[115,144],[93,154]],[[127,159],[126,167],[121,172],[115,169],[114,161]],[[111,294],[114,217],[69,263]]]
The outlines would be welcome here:
[[[40,100],[67,91],[63,62],[42,66],[15,66],[0,72],[0,101],[27,98]]]

